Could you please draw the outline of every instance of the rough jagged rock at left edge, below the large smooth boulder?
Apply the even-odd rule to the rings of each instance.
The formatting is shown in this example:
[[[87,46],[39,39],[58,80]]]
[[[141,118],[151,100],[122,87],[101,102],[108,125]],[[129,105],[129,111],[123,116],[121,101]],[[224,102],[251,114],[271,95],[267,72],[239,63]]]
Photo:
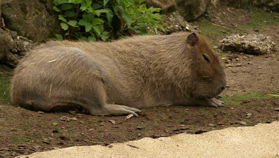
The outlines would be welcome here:
[[[0,29],[0,63],[15,67],[18,60],[25,56],[26,51],[39,45],[25,37],[17,36],[16,32]]]

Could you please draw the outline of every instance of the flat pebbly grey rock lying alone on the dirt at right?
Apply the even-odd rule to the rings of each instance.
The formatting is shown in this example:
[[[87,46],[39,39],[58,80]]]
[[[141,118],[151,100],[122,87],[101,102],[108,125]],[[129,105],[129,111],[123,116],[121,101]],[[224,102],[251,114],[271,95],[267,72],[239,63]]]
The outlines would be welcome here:
[[[233,35],[220,40],[218,47],[224,52],[243,52],[248,54],[269,54],[274,50],[275,43],[272,42],[270,36],[263,35],[247,35],[242,33],[240,35]]]

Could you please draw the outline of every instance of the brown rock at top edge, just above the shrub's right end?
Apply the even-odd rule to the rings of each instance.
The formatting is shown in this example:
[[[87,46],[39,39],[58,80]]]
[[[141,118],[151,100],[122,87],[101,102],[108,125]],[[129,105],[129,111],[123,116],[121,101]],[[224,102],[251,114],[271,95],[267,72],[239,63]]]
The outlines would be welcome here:
[[[161,8],[163,12],[177,11],[175,0],[147,0],[144,3],[146,3],[147,7]]]

